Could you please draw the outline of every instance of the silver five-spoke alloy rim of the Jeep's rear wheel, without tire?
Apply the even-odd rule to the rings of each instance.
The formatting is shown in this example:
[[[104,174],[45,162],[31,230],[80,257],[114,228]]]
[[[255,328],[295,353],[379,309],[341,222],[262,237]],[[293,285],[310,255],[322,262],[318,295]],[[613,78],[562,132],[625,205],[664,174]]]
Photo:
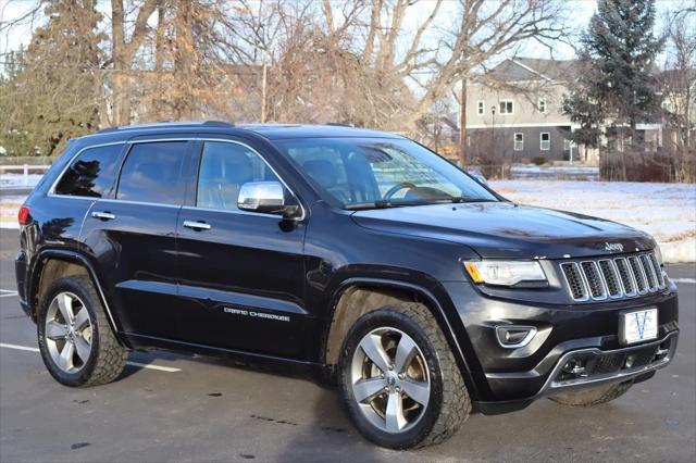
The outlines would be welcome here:
[[[92,346],[92,323],[85,303],[72,292],[60,292],[48,308],[45,328],[53,363],[64,373],[83,370]]]

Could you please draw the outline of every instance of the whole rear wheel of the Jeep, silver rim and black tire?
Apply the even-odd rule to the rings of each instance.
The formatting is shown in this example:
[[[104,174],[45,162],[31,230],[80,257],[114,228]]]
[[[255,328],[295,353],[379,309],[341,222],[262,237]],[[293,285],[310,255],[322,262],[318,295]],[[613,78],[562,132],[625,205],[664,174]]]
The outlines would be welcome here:
[[[87,276],[53,281],[37,311],[39,350],[49,373],[66,386],[111,383],[125,367],[127,351],[107,322]]]

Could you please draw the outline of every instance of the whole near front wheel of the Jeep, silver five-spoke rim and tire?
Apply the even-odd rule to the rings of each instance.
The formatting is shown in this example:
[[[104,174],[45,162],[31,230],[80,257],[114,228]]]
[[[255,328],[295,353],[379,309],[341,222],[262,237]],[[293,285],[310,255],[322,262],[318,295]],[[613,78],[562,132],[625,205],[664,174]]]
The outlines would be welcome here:
[[[348,415],[382,447],[444,441],[471,411],[449,346],[421,304],[382,308],[360,317],[344,341],[339,371]]]

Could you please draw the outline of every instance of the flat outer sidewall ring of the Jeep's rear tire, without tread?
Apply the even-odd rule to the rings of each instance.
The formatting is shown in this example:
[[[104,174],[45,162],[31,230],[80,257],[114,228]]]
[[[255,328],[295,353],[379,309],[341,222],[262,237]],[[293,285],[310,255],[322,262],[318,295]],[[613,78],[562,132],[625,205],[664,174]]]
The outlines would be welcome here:
[[[91,323],[91,351],[89,352],[89,359],[85,363],[85,366],[76,372],[76,373],[65,373],[63,372],[51,358],[51,354],[48,350],[48,346],[46,343],[46,316],[48,314],[48,308],[53,301],[53,298],[61,292],[72,292],[79,298],[80,301],[85,304],[85,309],[89,313],[89,321]],[[38,310],[37,310],[37,337],[39,343],[39,351],[41,352],[41,359],[44,360],[44,364],[46,365],[48,372],[58,380],[59,383],[65,386],[83,386],[85,383],[89,380],[91,377],[95,367],[97,366],[97,358],[99,356],[97,353],[99,351],[99,324],[97,323],[97,314],[95,310],[98,310],[98,301],[92,299],[92,296],[89,293],[87,288],[84,288],[79,281],[67,277],[55,280],[45,292]]]

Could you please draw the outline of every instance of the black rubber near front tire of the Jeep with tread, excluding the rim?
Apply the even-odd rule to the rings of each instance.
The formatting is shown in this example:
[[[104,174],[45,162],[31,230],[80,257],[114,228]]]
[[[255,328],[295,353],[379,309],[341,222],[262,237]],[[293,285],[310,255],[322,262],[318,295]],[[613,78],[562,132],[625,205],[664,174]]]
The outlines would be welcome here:
[[[430,372],[430,401],[420,420],[398,434],[373,425],[353,396],[351,362],[360,340],[381,327],[393,327],[410,336],[425,358]],[[439,443],[461,427],[471,412],[471,400],[452,352],[431,312],[419,303],[385,306],[360,317],[350,328],[339,358],[339,388],[344,408],[358,430],[372,442],[390,449]]]

